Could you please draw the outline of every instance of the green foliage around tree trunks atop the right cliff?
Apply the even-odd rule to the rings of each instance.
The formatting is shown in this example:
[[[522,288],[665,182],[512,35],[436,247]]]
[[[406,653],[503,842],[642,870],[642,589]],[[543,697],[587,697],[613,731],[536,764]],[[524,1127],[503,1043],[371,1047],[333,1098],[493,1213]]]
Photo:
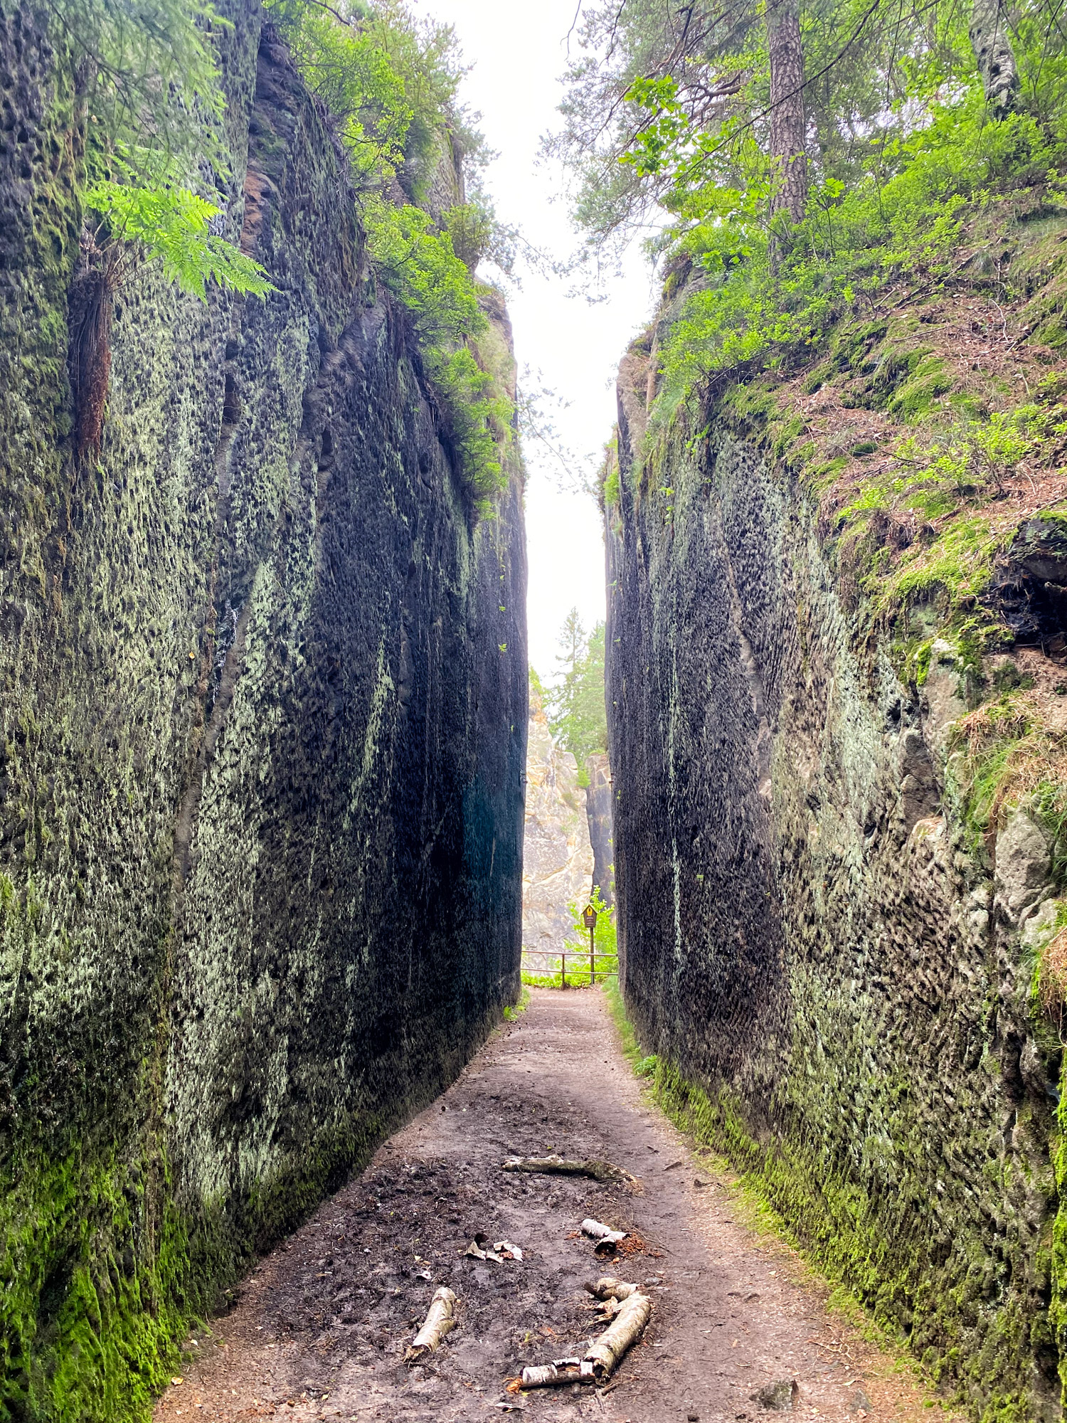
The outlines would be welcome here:
[[[716,371],[818,346],[835,319],[888,287],[953,280],[976,228],[992,231],[1020,189],[1060,201],[1067,88],[1053,75],[1067,46],[1050,3],[1020,16],[1021,102],[992,121],[960,11],[804,0],[804,101],[818,142],[795,226],[773,211],[758,9],[727,17],[626,0],[589,11],[556,151],[578,171],[576,216],[593,246],[650,209],[673,219],[653,245],[667,255],[671,302],[656,418]],[[895,410],[913,418],[945,388],[943,371],[916,371]]]

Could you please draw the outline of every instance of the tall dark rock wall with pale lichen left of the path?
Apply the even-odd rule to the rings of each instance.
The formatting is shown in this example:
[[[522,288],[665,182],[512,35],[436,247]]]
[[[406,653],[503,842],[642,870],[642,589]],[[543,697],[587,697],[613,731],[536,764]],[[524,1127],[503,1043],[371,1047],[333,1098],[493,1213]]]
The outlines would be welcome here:
[[[475,524],[320,110],[229,16],[226,218],[277,292],[142,270],[77,462],[80,135],[0,11],[11,1419],[144,1417],[189,1315],[518,993],[521,471]]]

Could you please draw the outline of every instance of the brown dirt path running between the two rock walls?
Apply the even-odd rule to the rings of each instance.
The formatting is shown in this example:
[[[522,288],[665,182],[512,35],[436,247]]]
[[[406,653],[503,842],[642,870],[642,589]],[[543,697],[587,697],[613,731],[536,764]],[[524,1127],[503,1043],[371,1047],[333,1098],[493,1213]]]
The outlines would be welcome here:
[[[603,1157],[632,1191],[499,1170],[509,1153]],[[674,1163],[681,1161],[680,1165]],[[764,1385],[795,1379],[795,1412],[918,1419],[916,1386],[804,1284],[791,1254],[738,1224],[662,1113],[642,1100],[600,993],[535,990],[460,1080],[263,1259],[213,1336],[186,1345],[172,1419],[532,1420],[701,1423],[757,1419]],[[578,1234],[585,1215],[636,1231],[644,1248],[605,1266]],[[475,1262],[477,1231],[522,1262]],[[504,1380],[589,1338],[582,1284],[616,1274],[647,1286],[653,1321],[603,1392],[573,1385],[515,1397]],[[431,1359],[401,1353],[438,1284],[458,1326]]]

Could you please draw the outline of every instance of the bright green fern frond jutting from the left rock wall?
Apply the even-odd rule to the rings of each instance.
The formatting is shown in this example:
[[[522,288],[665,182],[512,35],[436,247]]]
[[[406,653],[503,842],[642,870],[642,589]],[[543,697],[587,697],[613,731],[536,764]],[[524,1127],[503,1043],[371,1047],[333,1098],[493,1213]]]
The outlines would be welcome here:
[[[84,202],[104,218],[112,242],[138,243],[149,260],[162,262],[171,280],[202,302],[212,277],[253,296],[275,290],[259,262],[211,232],[219,209],[188,189],[101,181],[85,192]]]

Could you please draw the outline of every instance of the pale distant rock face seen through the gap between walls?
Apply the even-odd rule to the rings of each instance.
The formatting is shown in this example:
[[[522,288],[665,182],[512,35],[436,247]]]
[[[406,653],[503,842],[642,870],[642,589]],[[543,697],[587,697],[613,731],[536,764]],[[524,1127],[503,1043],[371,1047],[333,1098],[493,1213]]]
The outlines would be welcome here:
[[[585,902],[592,884],[593,847],[578,763],[552,740],[541,700],[531,690],[522,852],[522,951],[529,958],[524,968],[534,973],[549,968],[543,955],[558,955],[570,933],[568,904]]]

